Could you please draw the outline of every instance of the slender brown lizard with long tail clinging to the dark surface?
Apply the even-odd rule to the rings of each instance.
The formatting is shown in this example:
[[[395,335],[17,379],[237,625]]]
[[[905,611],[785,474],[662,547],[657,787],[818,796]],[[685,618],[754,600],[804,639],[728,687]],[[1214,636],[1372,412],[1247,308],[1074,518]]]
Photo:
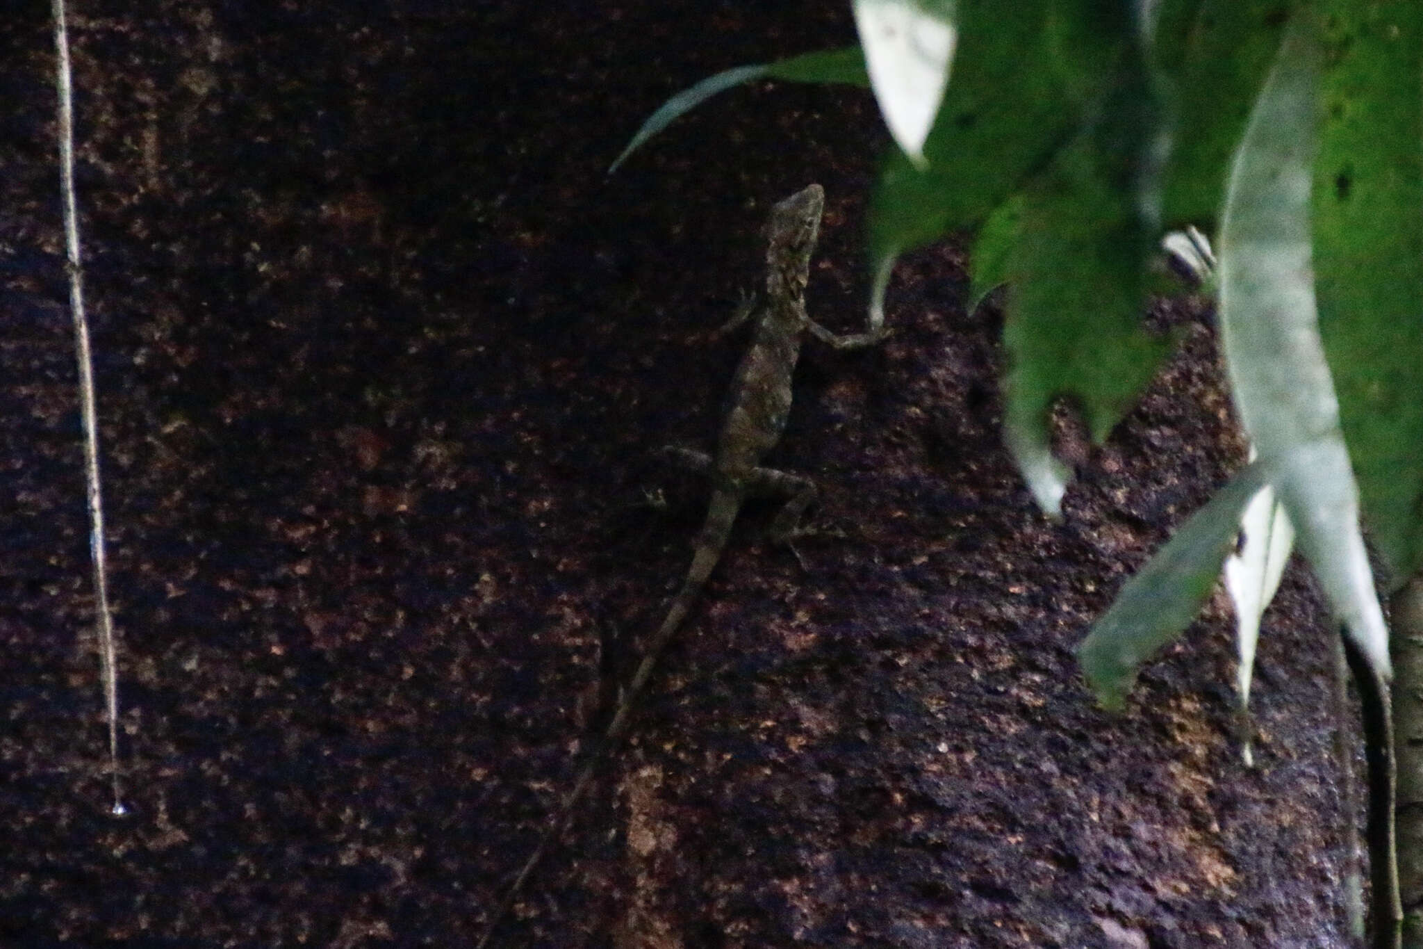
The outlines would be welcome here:
[[[751,306],[743,306],[721,333],[756,319],[750,347],[737,366],[729,411],[712,455],[686,448],[667,448],[680,464],[706,474],[712,481],[712,501],[706,521],[693,544],[692,566],[662,625],[647,640],[640,663],[623,687],[613,717],[588,753],[578,778],[564,795],[554,821],[534,852],[524,862],[504,899],[494,911],[477,949],[482,949],[504,921],[514,899],[544,855],[572,822],[573,810],[592,784],[599,764],[628,734],[638,700],[647,687],[659,657],[682,627],[707,579],[721,559],[731,525],[750,497],[788,498],[776,515],[770,539],[785,542],[795,534],[800,515],[815,498],[815,484],[803,475],[761,467],[761,458],[776,447],[791,407],[791,377],[800,359],[805,334],[835,349],[858,349],[884,339],[888,333],[877,316],[865,333],[835,334],[810,319],[805,312],[805,285],[810,260],[820,236],[825,191],[810,185],[771,208],[766,223],[766,293]],[[878,313],[878,310],[877,310]]]

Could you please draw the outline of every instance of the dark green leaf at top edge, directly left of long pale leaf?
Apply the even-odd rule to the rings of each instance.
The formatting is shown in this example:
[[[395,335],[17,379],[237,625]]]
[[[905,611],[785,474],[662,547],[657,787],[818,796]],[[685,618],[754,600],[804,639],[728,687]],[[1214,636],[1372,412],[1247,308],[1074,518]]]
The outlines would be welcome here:
[[[1231,155],[1279,48],[1292,0],[1202,0],[1191,28],[1163,16],[1158,60],[1173,88],[1173,149],[1163,176],[1161,219],[1214,232]],[[1168,44],[1183,43],[1180,53]]]

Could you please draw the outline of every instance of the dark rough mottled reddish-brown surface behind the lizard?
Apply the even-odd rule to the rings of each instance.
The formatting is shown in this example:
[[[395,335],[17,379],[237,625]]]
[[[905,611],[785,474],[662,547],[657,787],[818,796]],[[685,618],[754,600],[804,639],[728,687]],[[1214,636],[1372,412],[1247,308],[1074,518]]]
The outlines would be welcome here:
[[[669,94],[852,40],[746,7],[75,4],[120,820],[48,10],[0,18],[0,943],[474,942],[686,568],[704,489],[652,450],[716,427],[770,202],[825,185],[811,304],[861,322],[867,94],[739,90],[603,176]],[[1299,573],[1254,771],[1220,602],[1124,716],[1072,657],[1239,461],[1210,330],[1158,313],[1184,350],[1053,525],[965,290],[914,255],[888,344],[808,347],[774,461],[827,535],[803,571],[751,511],[501,945],[1348,945]]]

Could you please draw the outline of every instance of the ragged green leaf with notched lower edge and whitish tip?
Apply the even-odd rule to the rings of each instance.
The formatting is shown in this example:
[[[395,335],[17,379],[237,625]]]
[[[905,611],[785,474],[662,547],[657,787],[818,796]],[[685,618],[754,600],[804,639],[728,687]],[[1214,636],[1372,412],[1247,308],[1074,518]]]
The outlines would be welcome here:
[[[1130,37],[1126,43],[1136,48]],[[1053,400],[1076,397],[1101,441],[1168,349],[1141,323],[1157,250],[1155,221],[1147,216],[1155,102],[1138,58],[1126,57],[1114,78],[1097,121],[1023,192],[1007,265],[1007,444],[1052,516],[1067,478],[1049,445]]]

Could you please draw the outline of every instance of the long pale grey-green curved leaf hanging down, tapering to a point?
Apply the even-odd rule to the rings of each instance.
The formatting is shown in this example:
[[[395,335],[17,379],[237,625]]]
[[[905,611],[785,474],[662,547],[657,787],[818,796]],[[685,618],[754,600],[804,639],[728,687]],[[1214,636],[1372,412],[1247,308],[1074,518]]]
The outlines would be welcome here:
[[[1387,676],[1389,642],[1315,314],[1309,198],[1318,48],[1291,24],[1231,168],[1221,341],[1241,423],[1348,635]]]

